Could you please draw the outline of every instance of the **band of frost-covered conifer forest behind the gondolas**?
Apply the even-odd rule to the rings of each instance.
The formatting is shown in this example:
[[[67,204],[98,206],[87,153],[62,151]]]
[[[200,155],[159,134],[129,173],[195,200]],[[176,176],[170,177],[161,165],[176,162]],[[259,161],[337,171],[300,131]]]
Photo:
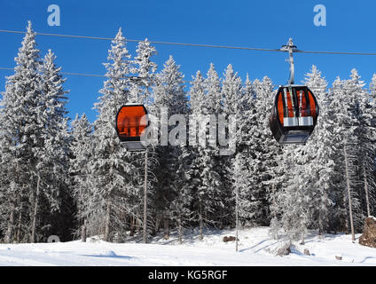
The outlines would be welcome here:
[[[269,115],[276,86],[267,76],[243,80],[229,65],[219,75],[214,64],[184,81],[172,56],[160,71],[147,40],[135,56],[121,29],[114,37],[106,81],[89,122],[70,122],[66,79],[48,51],[42,58],[29,22],[14,74],[0,100],[0,240],[60,241],[100,236],[127,241],[142,232],[144,175],[148,171],[147,234],[207,226],[235,225],[238,194],[242,226],[270,225],[274,237],[301,239],[307,230],[349,233],[349,194],[356,232],[375,213],[376,75],[369,88],[353,69],[329,88],[313,66],[305,84],[320,113],[304,146],[280,146],[272,138]],[[137,78],[137,80],[135,80]],[[236,115],[236,153],[219,147],[149,146],[129,152],[117,137],[114,118],[122,105],[144,104],[159,117]],[[171,126],[173,128],[173,126]],[[208,134],[208,133],[207,133]],[[146,166],[146,167],[145,167]]]

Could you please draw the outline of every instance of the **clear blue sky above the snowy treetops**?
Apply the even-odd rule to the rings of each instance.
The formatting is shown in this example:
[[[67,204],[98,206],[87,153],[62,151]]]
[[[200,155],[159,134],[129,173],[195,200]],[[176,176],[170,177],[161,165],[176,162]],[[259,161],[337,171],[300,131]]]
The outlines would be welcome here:
[[[47,23],[50,4],[58,4],[61,22],[59,27]],[[317,4],[326,7],[326,26],[313,23]],[[289,37],[301,50],[309,51],[369,51],[376,52],[373,34],[376,2],[336,0],[285,0],[285,1],[221,1],[221,0],[2,0],[0,3],[0,29],[25,30],[27,20],[32,20],[36,32],[80,36],[114,37],[121,27],[129,39],[180,43],[208,43],[245,47],[279,48]],[[0,67],[14,67],[14,57],[22,35],[0,33]],[[109,41],[37,36],[43,55],[51,49],[57,55],[57,64],[65,72],[105,74]],[[220,75],[232,64],[244,80],[268,75],[273,83],[283,84],[288,79],[285,53],[239,51],[199,47],[155,45],[155,61],[159,70],[169,55],[173,55],[186,80],[191,80],[197,70],[206,73],[210,62]],[[135,53],[135,43],[128,43]],[[296,83],[303,80],[312,64],[323,72],[331,84],[337,75],[348,78],[356,68],[368,84],[376,57],[295,54]],[[0,70],[0,91],[4,91],[5,75]],[[67,105],[70,116],[86,113],[90,121],[96,117],[92,106],[98,99],[102,78],[67,76],[65,85],[70,90]]]

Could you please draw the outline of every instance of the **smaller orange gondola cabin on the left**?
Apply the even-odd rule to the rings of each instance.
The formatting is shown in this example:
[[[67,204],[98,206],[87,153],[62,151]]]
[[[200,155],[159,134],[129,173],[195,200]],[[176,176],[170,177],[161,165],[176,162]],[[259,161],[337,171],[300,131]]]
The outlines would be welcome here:
[[[145,150],[141,134],[147,127],[146,114],[144,105],[129,104],[121,106],[116,115],[116,132],[129,151]]]

